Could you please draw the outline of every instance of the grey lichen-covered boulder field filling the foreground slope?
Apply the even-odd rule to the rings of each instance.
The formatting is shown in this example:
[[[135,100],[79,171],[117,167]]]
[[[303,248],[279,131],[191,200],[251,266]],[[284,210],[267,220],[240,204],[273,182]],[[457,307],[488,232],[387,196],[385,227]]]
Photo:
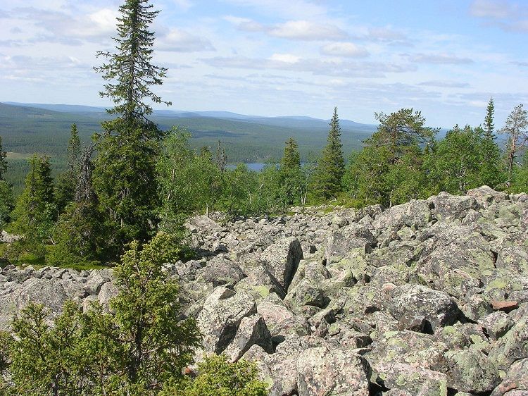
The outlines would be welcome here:
[[[528,395],[528,195],[189,223],[167,264],[203,353],[256,361],[270,395]],[[0,328],[30,300],[108,304],[111,271],[4,268]]]

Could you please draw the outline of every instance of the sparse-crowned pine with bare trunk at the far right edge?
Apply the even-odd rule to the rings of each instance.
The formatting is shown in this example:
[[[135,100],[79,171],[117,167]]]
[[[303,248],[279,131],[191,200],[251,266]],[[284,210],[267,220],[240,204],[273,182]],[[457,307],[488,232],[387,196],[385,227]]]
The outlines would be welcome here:
[[[519,156],[520,149],[528,142],[528,111],[522,108],[522,104],[515,106],[515,109],[506,118],[504,127],[499,132],[508,135],[508,143],[506,144],[508,179],[506,184],[510,187],[515,159]]]

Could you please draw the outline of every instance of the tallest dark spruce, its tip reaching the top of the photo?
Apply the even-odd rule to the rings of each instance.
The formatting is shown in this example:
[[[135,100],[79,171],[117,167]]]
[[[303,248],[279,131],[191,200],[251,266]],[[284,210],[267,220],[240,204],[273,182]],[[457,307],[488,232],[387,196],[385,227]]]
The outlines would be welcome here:
[[[147,240],[156,228],[156,158],[164,133],[146,116],[152,112],[146,100],[170,104],[153,93],[163,84],[166,69],[152,61],[154,33],[149,25],[159,11],[148,0],[126,0],[120,6],[115,53],[99,51],[106,58],[95,70],[107,81],[102,97],[115,103],[115,120],[103,123],[104,134],[94,161],[93,186],[112,230],[108,244],[115,256],[132,240]]]

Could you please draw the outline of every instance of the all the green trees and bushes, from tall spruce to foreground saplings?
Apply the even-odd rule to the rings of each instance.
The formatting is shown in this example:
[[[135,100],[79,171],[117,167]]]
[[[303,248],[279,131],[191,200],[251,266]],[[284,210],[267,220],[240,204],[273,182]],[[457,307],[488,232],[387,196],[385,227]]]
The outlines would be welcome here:
[[[58,173],[49,156],[30,156],[15,198],[6,171],[20,163],[6,161],[0,139],[0,229],[20,235],[0,245],[1,261],[111,266],[119,289],[113,314],[101,307],[83,313],[72,304],[50,328],[44,307],[23,311],[15,336],[0,335],[1,394],[264,395],[265,385],[244,362],[213,357],[200,376],[182,376],[199,334],[194,320],[182,320],[177,285],[162,265],[192,256],[184,223],[194,214],[220,212],[231,220],[291,206],[388,207],[480,185],[528,191],[527,111],[515,107],[496,128],[493,99],[482,125],[455,125],[441,140],[420,111],[378,113],[376,132],[346,153],[348,161],[336,108],[320,156],[301,161],[298,135],[260,172],[243,163],[228,167],[227,144],[193,147],[187,130],[162,128],[150,117],[148,103],[170,104],[153,92],[166,69],[151,63],[149,25],[158,13],[151,8],[147,0],[125,1],[115,53],[98,54],[106,61],[96,68],[106,81],[101,96],[115,105],[99,132],[88,140],[74,123],[67,147],[34,143],[66,152]],[[504,149],[497,135],[505,137]]]

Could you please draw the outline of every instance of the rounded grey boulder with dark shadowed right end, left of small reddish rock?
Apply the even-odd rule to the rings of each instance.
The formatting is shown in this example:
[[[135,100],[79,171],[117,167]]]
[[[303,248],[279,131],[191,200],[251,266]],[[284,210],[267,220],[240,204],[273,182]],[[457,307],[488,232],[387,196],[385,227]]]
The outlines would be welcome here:
[[[389,311],[394,318],[418,318],[423,316],[422,326],[434,332],[441,326],[448,326],[458,320],[459,309],[445,292],[429,289],[422,285],[396,287]]]

